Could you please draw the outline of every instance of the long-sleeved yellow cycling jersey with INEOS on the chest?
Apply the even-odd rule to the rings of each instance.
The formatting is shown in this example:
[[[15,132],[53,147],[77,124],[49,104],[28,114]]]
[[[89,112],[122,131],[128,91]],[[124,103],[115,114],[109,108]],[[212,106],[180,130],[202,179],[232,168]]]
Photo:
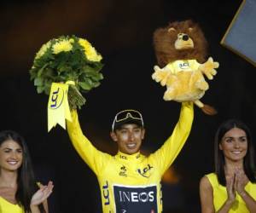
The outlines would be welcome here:
[[[84,162],[97,176],[103,213],[162,212],[161,177],[172,164],[189,136],[194,118],[193,103],[182,103],[180,118],[164,145],[148,157],[141,153],[117,153],[115,156],[97,150],[83,135],[78,114],[67,131]]]

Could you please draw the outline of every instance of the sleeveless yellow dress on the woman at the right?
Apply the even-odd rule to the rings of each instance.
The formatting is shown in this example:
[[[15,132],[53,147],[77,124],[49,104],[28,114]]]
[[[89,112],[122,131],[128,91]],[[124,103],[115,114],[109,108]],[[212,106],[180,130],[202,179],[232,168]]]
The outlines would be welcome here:
[[[212,185],[213,190],[213,204],[215,211],[218,211],[228,199],[228,194],[226,187],[218,184],[218,178],[215,173],[210,173],[207,175],[208,180],[210,181]],[[248,182],[245,190],[247,191],[250,196],[256,200],[256,183]],[[249,213],[249,210],[247,209],[247,206],[243,199],[241,199],[241,196],[236,193],[236,201],[232,205],[229,213]]]

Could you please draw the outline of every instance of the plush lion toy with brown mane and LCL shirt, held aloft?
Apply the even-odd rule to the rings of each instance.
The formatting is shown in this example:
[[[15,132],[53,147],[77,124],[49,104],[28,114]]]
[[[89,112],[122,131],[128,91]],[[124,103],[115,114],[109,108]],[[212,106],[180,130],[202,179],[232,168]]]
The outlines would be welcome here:
[[[166,86],[165,101],[194,101],[207,114],[213,107],[200,99],[209,89],[204,75],[212,80],[218,62],[207,56],[207,40],[200,26],[192,20],[175,21],[154,32],[154,50],[159,66],[152,78]],[[160,66],[162,68],[160,68]]]

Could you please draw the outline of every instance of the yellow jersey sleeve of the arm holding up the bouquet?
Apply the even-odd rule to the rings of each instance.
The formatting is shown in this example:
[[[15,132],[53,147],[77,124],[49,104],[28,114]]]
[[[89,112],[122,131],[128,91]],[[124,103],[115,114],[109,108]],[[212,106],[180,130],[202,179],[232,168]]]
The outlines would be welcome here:
[[[70,140],[73,143],[73,147],[79,153],[79,156],[89,165],[90,169],[93,170],[96,175],[102,170],[103,164],[107,163],[107,158],[110,155],[102,153],[97,150],[91,142],[83,134],[80,124],[78,112],[74,110],[71,112],[72,122],[67,121],[67,132]]]

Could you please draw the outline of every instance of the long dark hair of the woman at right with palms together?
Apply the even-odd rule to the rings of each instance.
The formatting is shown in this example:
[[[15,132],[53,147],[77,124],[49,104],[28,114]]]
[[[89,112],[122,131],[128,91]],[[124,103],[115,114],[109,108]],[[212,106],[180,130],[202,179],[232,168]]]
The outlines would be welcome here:
[[[225,161],[224,161],[224,153],[219,149],[219,144],[221,143],[226,132],[228,132],[229,130],[235,127],[243,130],[247,135],[247,154],[243,160],[243,168],[248,179],[251,182],[256,182],[255,157],[254,157],[254,148],[253,148],[251,132],[248,129],[247,125],[242,123],[240,120],[229,119],[224,123],[220,124],[214,139],[215,173],[218,176],[218,182],[223,186],[226,185],[226,179],[225,179],[225,173],[224,173]]]

